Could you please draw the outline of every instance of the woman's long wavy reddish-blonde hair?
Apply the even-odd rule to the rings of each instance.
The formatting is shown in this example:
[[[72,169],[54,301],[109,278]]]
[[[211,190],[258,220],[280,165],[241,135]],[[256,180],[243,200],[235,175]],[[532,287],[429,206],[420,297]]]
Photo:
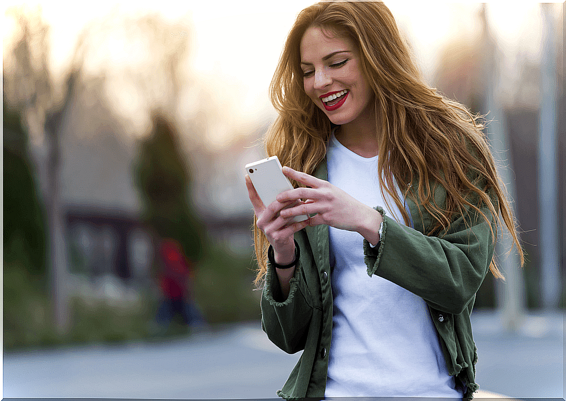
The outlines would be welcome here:
[[[306,95],[300,67],[301,39],[313,26],[348,37],[357,46],[362,72],[375,94],[381,193],[385,191],[393,199],[405,224],[409,225],[409,215],[396,183],[404,189],[405,197],[413,197],[432,216],[427,235],[446,232],[451,222],[470,208],[489,222],[480,210],[486,205],[498,227],[501,214],[523,265],[512,209],[480,116],[428,86],[383,2],[319,2],[298,14],[269,86],[278,117],[265,136],[267,155],[277,155],[282,165],[308,174],[324,160],[334,125]],[[414,179],[416,189],[411,188]],[[436,185],[446,190],[443,205],[434,201]],[[495,241],[494,228],[492,234]],[[258,261],[255,284],[260,285],[267,271],[269,243],[256,224],[254,244]],[[490,270],[496,278],[504,279],[493,259]]]

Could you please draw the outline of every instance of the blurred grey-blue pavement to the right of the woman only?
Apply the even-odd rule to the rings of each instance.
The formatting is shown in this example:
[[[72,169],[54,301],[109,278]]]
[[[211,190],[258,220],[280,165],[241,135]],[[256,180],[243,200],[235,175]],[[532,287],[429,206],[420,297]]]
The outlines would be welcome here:
[[[515,333],[501,329],[496,313],[472,315],[481,390],[514,398],[564,397],[564,314],[525,315]]]

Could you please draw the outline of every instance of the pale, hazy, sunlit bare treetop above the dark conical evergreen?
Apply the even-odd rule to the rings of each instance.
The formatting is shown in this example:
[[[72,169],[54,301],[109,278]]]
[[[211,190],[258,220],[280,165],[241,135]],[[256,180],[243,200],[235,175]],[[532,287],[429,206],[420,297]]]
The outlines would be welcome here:
[[[173,122],[198,114],[177,130],[183,148],[195,146],[203,138],[201,112],[207,103],[190,65],[194,39],[190,19],[129,11],[116,7],[87,23],[75,57],[88,64],[88,74],[105,77],[105,95],[132,137],[151,129],[151,110],[163,110]]]

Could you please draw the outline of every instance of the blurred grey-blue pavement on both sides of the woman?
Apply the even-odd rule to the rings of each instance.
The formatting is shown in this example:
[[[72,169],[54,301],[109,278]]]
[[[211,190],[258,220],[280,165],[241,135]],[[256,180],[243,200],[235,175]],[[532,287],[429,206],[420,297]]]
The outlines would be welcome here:
[[[530,316],[519,334],[476,314],[477,382],[514,398],[563,398],[563,315]],[[271,344],[259,322],[166,343],[6,354],[5,398],[277,398],[299,354]]]

